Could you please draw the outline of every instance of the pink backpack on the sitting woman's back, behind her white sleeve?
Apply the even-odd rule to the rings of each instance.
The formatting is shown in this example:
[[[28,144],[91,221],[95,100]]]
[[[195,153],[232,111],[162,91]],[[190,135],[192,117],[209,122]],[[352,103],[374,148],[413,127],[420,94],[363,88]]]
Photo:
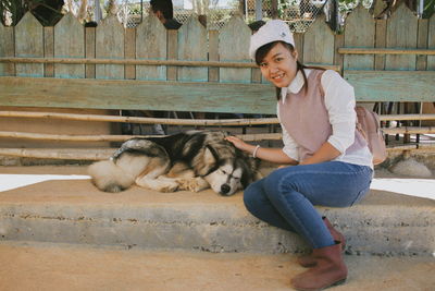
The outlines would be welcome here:
[[[387,149],[378,116],[361,106],[357,106],[355,110],[358,119],[357,129],[369,144],[373,155],[373,165],[383,162],[387,158]]]

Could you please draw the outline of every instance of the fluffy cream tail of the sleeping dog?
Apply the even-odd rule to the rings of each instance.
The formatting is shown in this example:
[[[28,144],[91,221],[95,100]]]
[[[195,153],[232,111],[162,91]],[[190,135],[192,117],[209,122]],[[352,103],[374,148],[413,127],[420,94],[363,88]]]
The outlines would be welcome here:
[[[117,167],[112,160],[97,161],[89,166],[92,183],[101,191],[116,193],[128,189],[135,177]]]

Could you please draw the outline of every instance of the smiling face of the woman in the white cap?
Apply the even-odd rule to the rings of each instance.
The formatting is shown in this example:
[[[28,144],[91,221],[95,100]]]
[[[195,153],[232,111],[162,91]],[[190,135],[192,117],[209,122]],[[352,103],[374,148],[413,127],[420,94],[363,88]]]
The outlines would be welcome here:
[[[287,87],[296,76],[297,58],[296,50],[291,52],[283,44],[277,43],[260,62],[261,73],[276,87]]]

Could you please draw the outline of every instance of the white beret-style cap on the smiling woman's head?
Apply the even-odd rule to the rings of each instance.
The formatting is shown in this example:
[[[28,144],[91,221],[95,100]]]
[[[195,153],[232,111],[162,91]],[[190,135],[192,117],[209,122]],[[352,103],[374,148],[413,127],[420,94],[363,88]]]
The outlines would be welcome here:
[[[279,20],[268,21],[260,29],[251,36],[249,56],[256,60],[257,50],[273,41],[284,41],[295,47],[295,39],[288,25]]]

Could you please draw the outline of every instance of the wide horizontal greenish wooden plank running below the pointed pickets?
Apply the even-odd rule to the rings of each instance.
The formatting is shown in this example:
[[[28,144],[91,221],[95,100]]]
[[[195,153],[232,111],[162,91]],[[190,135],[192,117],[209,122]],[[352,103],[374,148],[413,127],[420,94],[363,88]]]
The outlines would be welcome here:
[[[359,101],[435,101],[435,72],[345,71]],[[0,106],[276,112],[270,84],[0,77]]]

